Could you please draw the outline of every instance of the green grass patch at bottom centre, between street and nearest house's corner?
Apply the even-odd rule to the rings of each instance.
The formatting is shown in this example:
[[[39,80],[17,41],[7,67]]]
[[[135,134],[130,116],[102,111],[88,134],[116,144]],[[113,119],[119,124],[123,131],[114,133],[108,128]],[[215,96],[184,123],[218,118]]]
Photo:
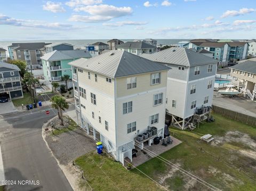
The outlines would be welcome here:
[[[96,152],[90,152],[79,157],[75,162],[84,171],[84,177],[94,190],[154,191],[163,189],[145,175],[126,170],[121,163],[115,162],[112,157],[104,154],[99,155]],[[89,190],[89,186],[84,180],[80,181],[79,186],[83,190]]]

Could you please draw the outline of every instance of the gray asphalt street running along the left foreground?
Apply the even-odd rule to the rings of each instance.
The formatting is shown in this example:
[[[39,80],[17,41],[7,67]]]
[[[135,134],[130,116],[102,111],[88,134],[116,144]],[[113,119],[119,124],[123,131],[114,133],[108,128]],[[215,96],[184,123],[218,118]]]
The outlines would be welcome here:
[[[54,116],[50,111],[50,115],[45,108],[0,115],[5,179],[39,180],[39,185],[12,185],[8,190],[72,190],[42,138],[43,122]]]

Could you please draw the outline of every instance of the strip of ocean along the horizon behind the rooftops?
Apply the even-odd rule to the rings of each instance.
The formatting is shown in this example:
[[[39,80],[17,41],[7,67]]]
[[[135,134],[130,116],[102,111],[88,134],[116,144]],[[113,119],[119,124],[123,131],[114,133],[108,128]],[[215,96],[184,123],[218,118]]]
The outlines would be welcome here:
[[[86,46],[87,44],[93,44],[98,41],[102,43],[107,43],[109,39],[79,39],[79,40],[18,40],[18,41],[0,41],[0,47],[5,48],[6,50],[8,46],[12,43],[36,43],[36,42],[45,42],[45,43],[69,43],[74,45],[75,48]],[[122,41],[133,41],[134,39],[121,39]],[[157,44],[162,45],[175,45],[179,41],[188,41],[189,39],[156,39]]]

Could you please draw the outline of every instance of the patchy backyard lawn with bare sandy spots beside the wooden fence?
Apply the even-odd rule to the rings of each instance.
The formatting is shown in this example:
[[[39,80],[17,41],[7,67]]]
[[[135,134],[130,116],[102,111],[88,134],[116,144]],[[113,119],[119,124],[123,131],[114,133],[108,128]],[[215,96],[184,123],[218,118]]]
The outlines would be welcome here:
[[[256,188],[256,158],[244,156],[239,151],[252,151],[254,149],[244,142],[229,141],[229,139],[218,145],[207,144],[199,140],[205,134],[211,134],[213,137],[227,136],[228,131],[241,132],[241,136],[254,141],[256,144],[256,128],[245,124],[223,118],[220,115],[214,115],[215,122],[204,123],[194,131],[179,130],[170,128],[170,134],[182,140],[183,143],[161,154],[165,159],[179,164],[181,168],[193,173],[203,180],[209,182],[222,190],[255,190]],[[202,147],[202,151],[201,151]],[[151,159],[138,167],[155,180],[161,180],[170,174],[164,181],[164,186],[171,190],[187,190],[189,178],[179,171],[173,172],[173,168],[159,159]],[[241,168],[243,170],[239,171]],[[137,170],[132,170],[137,173]],[[247,175],[246,175],[246,174]],[[254,179],[250,178],[254,177]],[[190,187],[193,190],[205,190],[206,187],[195,183]]]

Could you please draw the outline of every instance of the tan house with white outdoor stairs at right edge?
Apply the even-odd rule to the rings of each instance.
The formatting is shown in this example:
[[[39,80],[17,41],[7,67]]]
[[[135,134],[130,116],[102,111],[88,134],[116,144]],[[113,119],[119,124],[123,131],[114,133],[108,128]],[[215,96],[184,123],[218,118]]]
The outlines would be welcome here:
[[[252,100],[256,99],[256,60],[241,61],[230,69],[232,84]]]

